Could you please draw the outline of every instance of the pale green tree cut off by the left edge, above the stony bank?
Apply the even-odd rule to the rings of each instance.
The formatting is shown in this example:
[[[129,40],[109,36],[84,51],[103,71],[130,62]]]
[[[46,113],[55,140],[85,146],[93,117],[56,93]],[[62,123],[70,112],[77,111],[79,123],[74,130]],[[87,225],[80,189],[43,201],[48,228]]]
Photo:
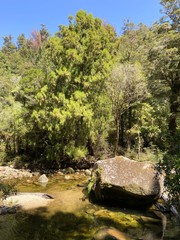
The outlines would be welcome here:
[[[18,151],[17,139],[23,128],[20,126],[21,104],[15,102],[13,96],[19,79],[12,74],[12,66],[6,61],[7,56],[0,52],[0,147],[5,146],[6,153],[15,154]]]

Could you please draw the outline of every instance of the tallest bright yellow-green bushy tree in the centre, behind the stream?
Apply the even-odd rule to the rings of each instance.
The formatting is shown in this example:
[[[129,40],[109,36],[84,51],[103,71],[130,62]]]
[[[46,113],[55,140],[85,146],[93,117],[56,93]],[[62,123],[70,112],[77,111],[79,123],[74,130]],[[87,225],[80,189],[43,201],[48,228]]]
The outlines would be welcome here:
[[[34,141],[37,158],[60,164],[62,158],[76,160],[93,154],[93,146],[108,124],[109,105],[102,99],[107,99],[105,80],[113,64],[115,41],[111,26],[79,11],[75,18],[70,17],[69,26],[60,26],[56,36],[44,44],[41,55],[47,56],[51,69],[42,69],[44,82],[37,93],[33,91],[32,112],[25,103],[32,132],[39,135]],[[29,73],[27,79],[32,86]],[[27,84],[25,97],[29,98],[29,91]]]

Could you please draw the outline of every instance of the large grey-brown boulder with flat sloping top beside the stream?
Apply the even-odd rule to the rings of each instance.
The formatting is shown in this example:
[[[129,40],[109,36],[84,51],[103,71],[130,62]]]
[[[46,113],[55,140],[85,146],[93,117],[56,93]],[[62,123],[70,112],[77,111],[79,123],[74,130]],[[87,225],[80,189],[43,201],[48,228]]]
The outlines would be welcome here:
[[[92,183],[91,196],[122,207],[149,207],[163,191],[163,177],[153,164],[123,156],[97,161]]]

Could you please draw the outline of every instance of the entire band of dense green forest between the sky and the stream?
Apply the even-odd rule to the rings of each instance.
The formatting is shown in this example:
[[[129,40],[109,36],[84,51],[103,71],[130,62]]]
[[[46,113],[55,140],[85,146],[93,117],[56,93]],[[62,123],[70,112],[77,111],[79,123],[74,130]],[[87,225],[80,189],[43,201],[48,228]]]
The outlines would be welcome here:
[[[123,34],[79,11],[50,36],[44,25],[0,50],[0,157],[64,167],[125,154],[180,179],[180,6],[162,0],[151,27]]]

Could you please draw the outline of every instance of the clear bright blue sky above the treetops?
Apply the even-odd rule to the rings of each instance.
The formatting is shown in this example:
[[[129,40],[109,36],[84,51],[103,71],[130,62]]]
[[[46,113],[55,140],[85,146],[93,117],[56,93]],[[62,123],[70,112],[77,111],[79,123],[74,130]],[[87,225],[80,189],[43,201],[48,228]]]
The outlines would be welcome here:
[[[3,36],[12,35],[14,42],[24,33],[46,25],[53,35],[60,24],[68,24],[68,16],[82,9],[115,27],[120,34],[123,20],[150,26],[161,17],[160,0],[0,0],[0,46]]]

